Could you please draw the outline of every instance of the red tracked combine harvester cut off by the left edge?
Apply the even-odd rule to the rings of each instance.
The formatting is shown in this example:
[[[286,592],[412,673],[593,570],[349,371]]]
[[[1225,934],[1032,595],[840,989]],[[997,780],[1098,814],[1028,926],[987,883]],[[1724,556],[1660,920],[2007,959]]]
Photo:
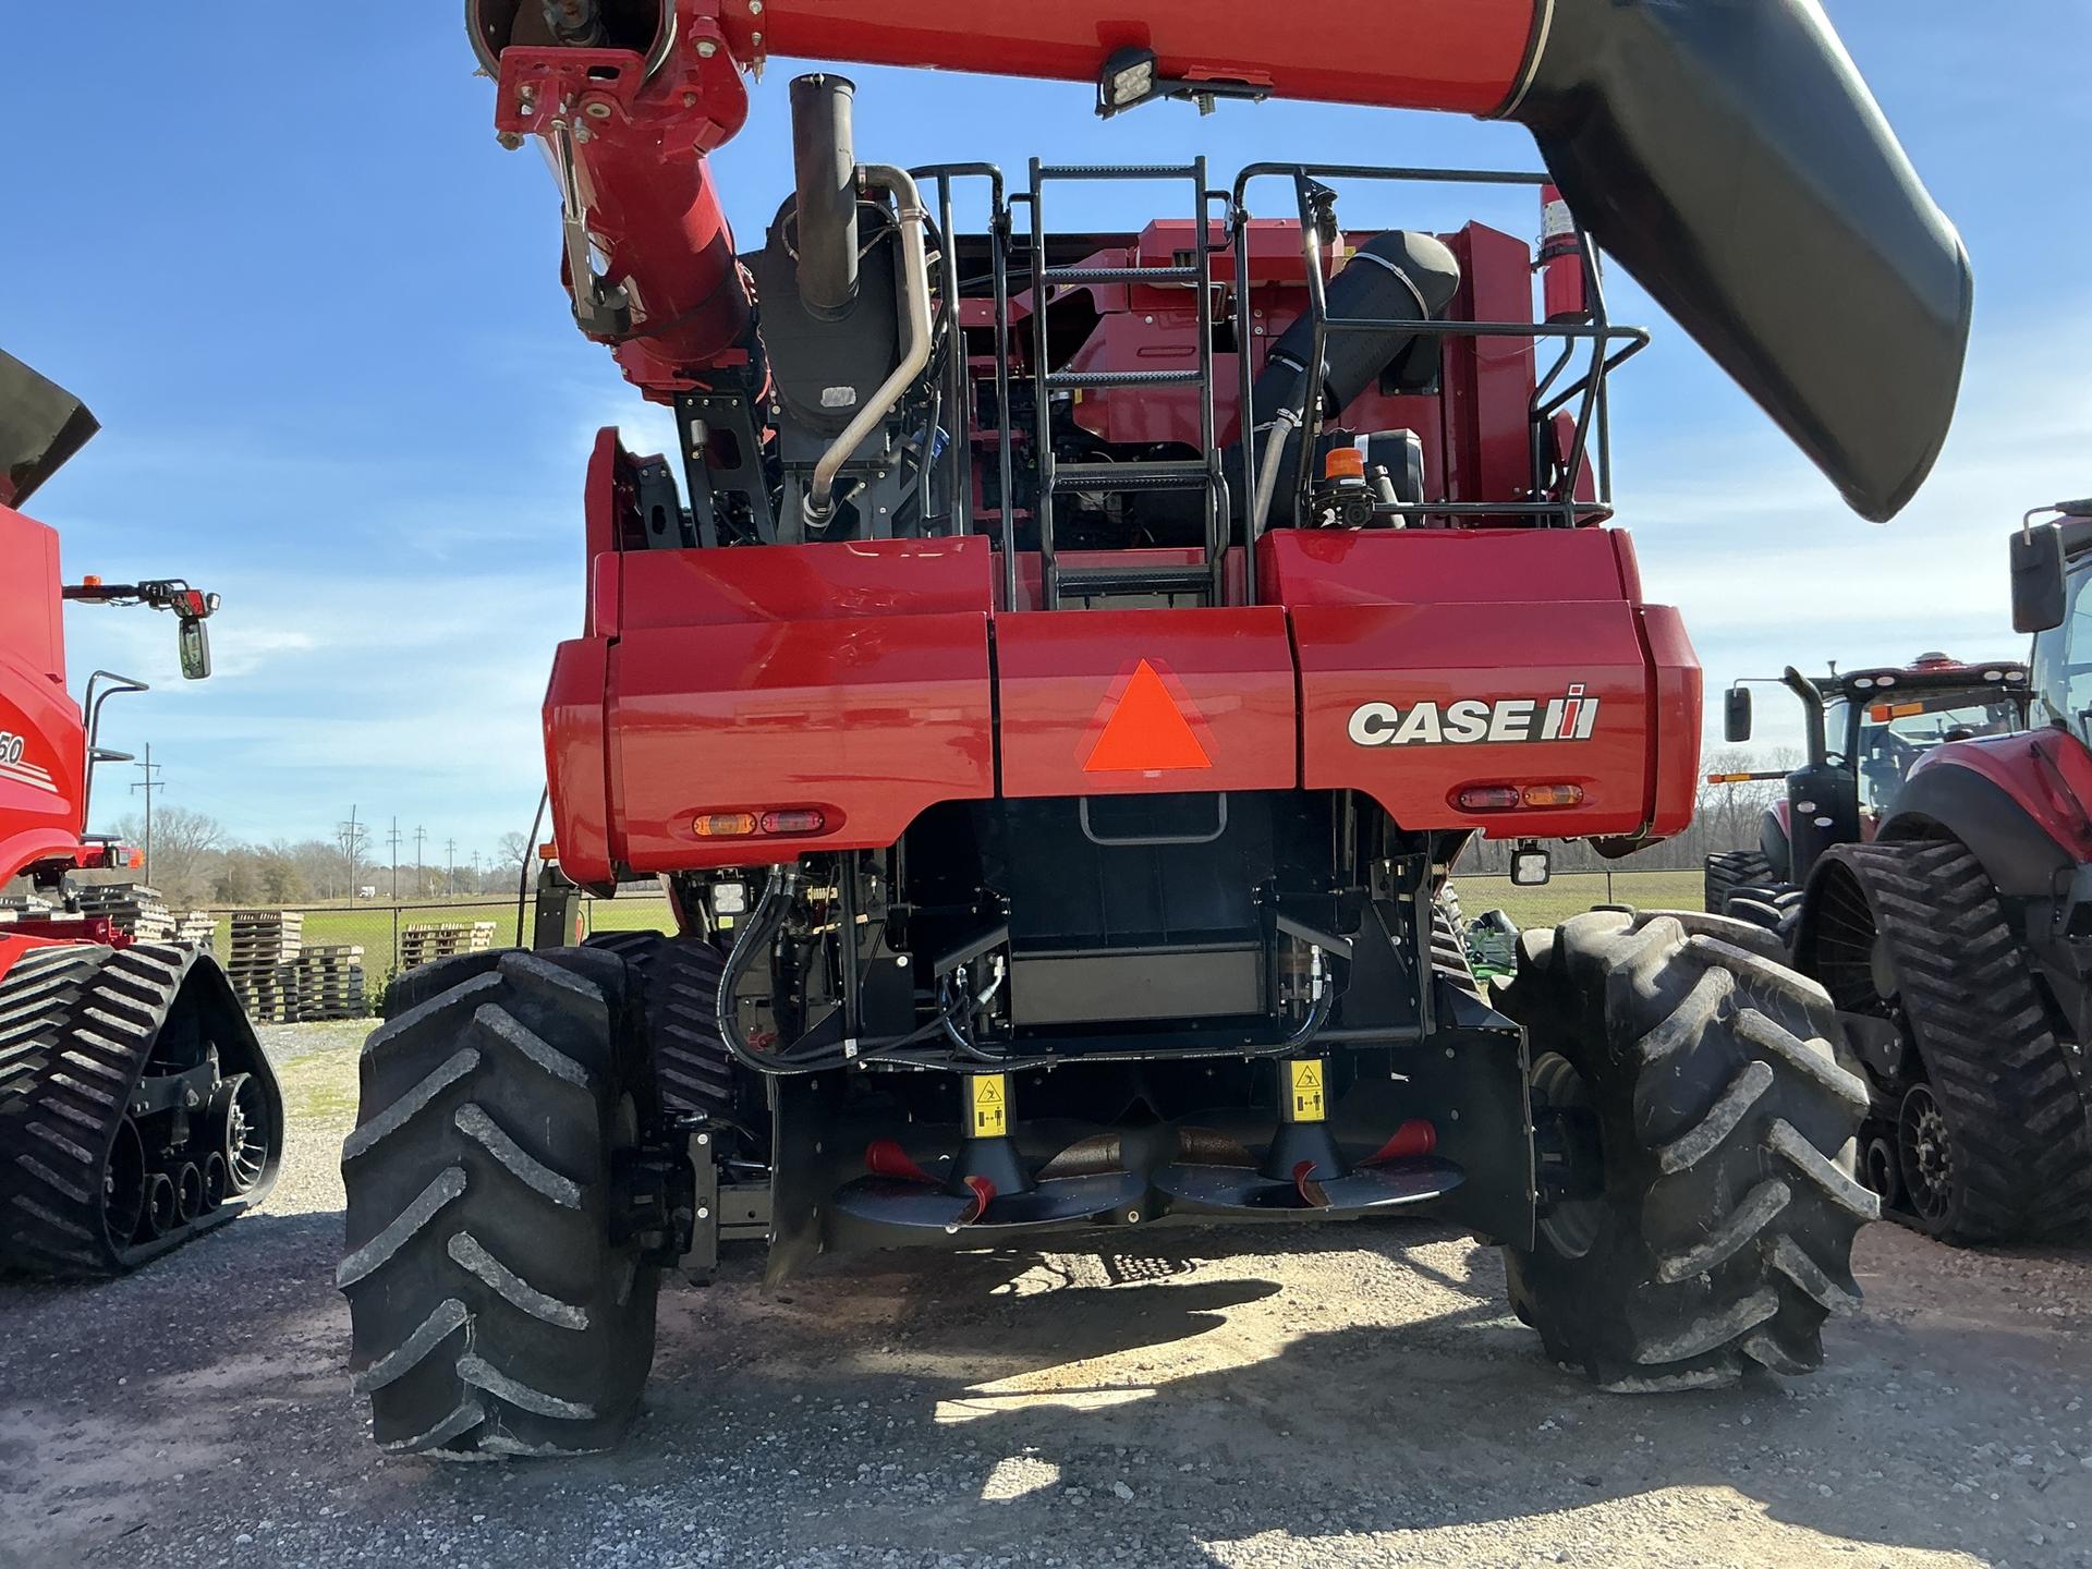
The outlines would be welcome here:
[[[96,431],[71,393],[0,354],[0,883],[52,906],[0,925],[0,1272],[121,1274],[255,1205],[282,1098],[218,962],[71,906],[73,872],[130,851],[86,835],[103,703],[65,690],[63,600],[174,611],[182,674],[209,674],[218,609],[178,579],[61,586],[59,536],[15,508]]]

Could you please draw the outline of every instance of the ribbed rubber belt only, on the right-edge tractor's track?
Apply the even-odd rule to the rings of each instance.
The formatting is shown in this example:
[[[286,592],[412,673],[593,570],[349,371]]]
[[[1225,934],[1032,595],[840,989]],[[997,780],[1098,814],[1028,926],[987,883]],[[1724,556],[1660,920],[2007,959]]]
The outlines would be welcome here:
[[[1950,1241],[2025,1241],[2092,1220],[2092,1123],[2025,950],[1956,843],[1843,845],[1889,948],[1904,1017],[1954,1138]]]

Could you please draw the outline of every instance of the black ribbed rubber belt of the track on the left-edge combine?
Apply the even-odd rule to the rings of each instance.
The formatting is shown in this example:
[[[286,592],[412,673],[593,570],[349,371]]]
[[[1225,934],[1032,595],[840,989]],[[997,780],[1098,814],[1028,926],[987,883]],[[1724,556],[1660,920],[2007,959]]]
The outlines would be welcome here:
[[[0,977],[0,1268],[123,1274],[232,1220],[266,1188],[142,1249],[111,1247],[103,1167],[195,952],[65,946]]]

